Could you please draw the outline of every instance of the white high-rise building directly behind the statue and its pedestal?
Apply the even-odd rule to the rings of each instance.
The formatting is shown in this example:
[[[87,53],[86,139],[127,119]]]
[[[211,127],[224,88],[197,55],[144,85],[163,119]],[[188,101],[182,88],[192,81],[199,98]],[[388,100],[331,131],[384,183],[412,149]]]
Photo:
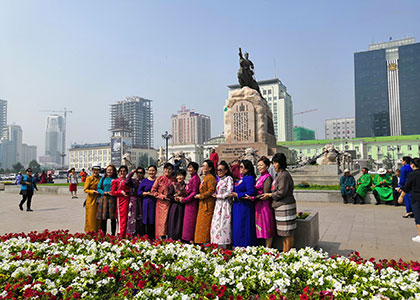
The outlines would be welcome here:
[[[293,140],[293,103],[286,86],[278,78],[258,81],[262,96],[273,113],[274,133],[277,141]],[[229,94],[239,89],[238,84],[229,85]]]

